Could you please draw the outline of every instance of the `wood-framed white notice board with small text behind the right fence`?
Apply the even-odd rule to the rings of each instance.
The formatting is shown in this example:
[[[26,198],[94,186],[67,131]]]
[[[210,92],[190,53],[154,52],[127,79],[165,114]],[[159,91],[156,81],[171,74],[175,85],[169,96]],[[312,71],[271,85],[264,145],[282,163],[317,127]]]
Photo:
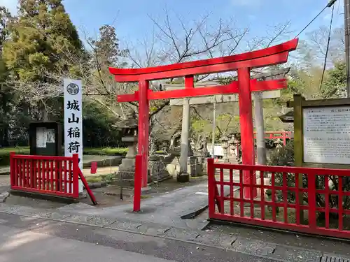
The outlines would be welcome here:
[[[349,168],[350,99],[294,96],[295,165]]]

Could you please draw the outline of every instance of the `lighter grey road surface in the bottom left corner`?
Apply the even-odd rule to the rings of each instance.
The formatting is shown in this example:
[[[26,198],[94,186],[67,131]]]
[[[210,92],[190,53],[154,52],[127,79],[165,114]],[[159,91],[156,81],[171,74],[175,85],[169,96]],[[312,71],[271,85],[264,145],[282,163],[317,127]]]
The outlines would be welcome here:
[[[130,262],[169,262],[154,256],[128,252],[123,249],[105,247],[89,242],[59,238],[45,233],[23,231],[17,228],[0,226],[0,261],[130,261]]]

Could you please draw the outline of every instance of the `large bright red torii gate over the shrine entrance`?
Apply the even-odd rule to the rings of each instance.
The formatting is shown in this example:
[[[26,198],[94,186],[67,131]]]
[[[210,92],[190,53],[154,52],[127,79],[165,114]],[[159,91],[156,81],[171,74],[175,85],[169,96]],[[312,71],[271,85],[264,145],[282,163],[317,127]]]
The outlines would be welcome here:
[[[142,187],[147,187],[148,174],[148,124],[149,101],[157,99],[180,99],[191,96],[211,96],[216,94],[239,94],[239,122],[241,125],[241,150],[244,164],[255,164],[254,136],[251,92],[283,89],[286,79],[256,81],[251,80],[251,68],[283,64],[288,54],[297,48],[297,38],[263,50],[236,54],[228,57],[190,61],[167,66],[149,68],[109,68],[117,82],[139,82],[139,90],[134,94],[120,94],[118,102],[139,102],[139,149],[142,156]],[[238,80],[229,85],[214,87],[194,87],[194,75],[238,71]],[[185,77],[185,89],[153,92],[149,89],[151,80]],[[255,177],[253,182],[255,183]],[[244,183],[250,184],[249,173],[244,174]],[[140,189],[141,191],[141,189]],[[255,194],[254,194],[255,195]],[[244,188],[244,196],[250,198],[250,189]]]

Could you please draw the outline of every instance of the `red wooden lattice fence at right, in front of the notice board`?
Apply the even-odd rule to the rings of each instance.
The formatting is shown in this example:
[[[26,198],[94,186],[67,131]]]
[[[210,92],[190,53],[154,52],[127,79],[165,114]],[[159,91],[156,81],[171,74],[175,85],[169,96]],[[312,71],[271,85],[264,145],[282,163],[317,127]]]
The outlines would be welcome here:
[[[254,173],[257,177],[267,173],[270,182],[262,175],[256,183],[246,184],[244,172],[250,173],[251,180]],[[350,238],[350,170],[235,165],[208,159],[208,176],[209,219]],[[224,187],[230,188],[229,194],[224,194]],[[244,197],[244,189],[251,191],[249,198]],[[254,189],[260,192],[257,198]]]

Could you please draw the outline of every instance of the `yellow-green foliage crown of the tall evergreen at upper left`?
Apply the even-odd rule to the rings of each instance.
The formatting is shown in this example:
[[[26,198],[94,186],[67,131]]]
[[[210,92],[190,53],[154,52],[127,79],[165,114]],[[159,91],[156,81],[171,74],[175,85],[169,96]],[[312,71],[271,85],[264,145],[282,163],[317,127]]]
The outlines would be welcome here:
[[[3,46],[6,66],[19,80],[45,80],[43,69],[53,73],[67,64],[64,50],[83,51],[78,31],[64,10],[61,0],[20,0],[18,17],[8,27]]]

